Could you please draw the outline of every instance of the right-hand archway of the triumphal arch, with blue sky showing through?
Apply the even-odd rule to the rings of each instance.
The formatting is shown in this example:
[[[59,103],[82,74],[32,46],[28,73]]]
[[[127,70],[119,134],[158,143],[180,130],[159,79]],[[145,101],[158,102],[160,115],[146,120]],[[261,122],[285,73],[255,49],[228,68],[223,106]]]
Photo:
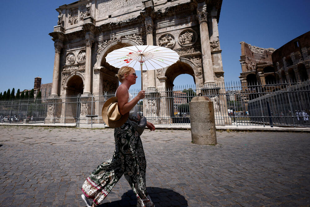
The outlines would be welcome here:
[[[188,96],[196,96],[195,76],[193,68],[184,62],[177,62],[166,70],[165,76],[167,92],[167,106],[173,123],[189,123],[189,101]],[[192,81],[191,81],[192,80]],[[189,83],[178,84],[178,83]],[[190,84],[192,82],[192,84]],[[174,84],[178,84],[175,85]],[[172,89],[172,90],[171,90]]]

